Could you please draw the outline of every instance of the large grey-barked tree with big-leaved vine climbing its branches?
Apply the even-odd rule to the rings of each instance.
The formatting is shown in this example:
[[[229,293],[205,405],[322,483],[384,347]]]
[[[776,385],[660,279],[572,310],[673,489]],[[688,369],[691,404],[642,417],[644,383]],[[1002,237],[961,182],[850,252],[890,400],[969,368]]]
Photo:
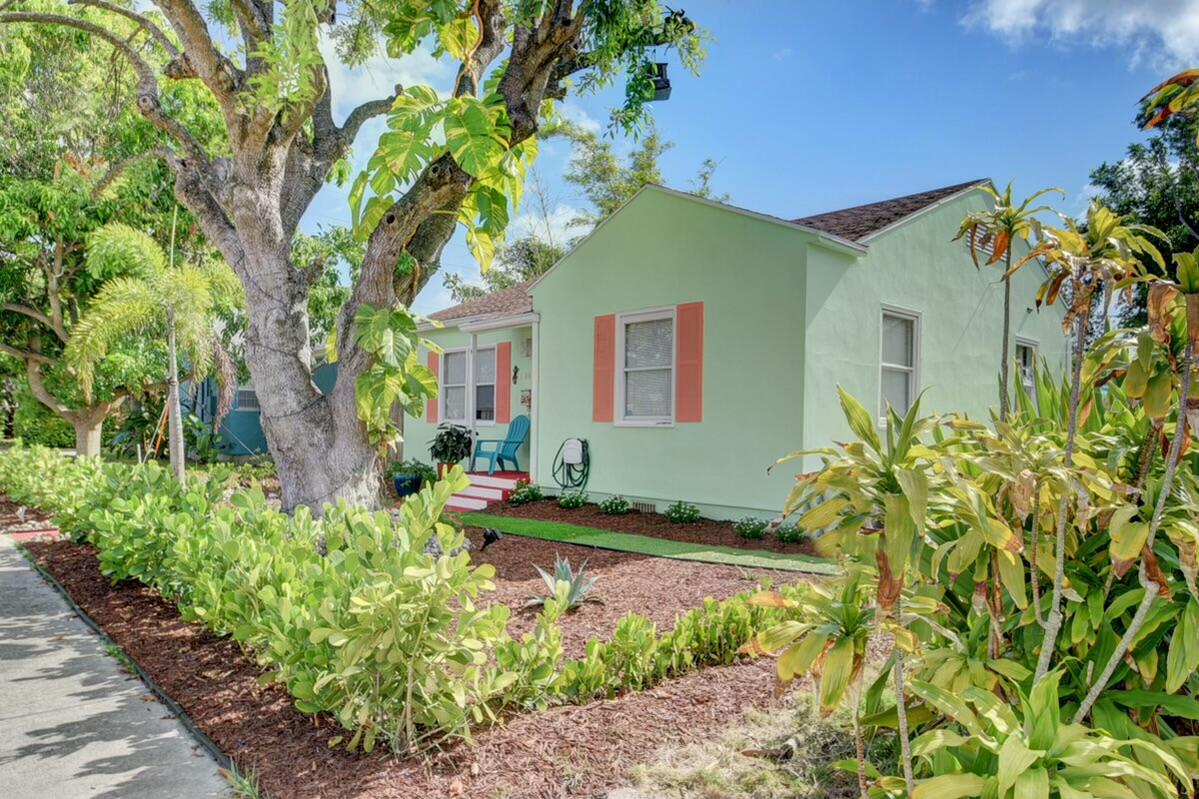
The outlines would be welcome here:
[[[246,288],[246,362],[278,465],[283,506],[378,499],[380,439],[393,427],[360,417],[363,397],[426,396],[415,382],[372,373],[380,355],[356,326],[410,304],[436,272],[463,226],[486,268],[502,239],[536,155],[553,101],[626,77],[614,124],[635,130],[653,97],[655,53],[673,48],[695,70],[703,34],[657,0],[153,0],[153,11],[109,0],[4,4],[2,24],[60,25],[112,46],[137,74],[137,108],[156,128],[144,152],[174,175],[179,202],[197,218]],[[137,35],[114,32],[132,20]],[[213,30],[216,29],[216,30]],[[234,47],[222,46],[222,41]],[[325,46],[325,47],[323,47]],[[430,52],[457,67],[448,95],[397,86],[338,124],[326,53],[356,66]],[[205,146],[163,102],[168,82],[203,85],[224,122]],[[324,269],[299,269],[300,218],[330,179],[344,175],[362,125],[386,116],[387,132],[354,184],[355,233],[366,257],[336,324],[339,373],[329,394],[313,380],[307,298]],[[363,311],[373,313],[362,316]],[[403,317],[390,317],[406,326]],[[405,335],[400,330],[398,335]],[[367,421],[386,416],[374,410]]]

